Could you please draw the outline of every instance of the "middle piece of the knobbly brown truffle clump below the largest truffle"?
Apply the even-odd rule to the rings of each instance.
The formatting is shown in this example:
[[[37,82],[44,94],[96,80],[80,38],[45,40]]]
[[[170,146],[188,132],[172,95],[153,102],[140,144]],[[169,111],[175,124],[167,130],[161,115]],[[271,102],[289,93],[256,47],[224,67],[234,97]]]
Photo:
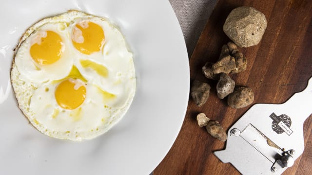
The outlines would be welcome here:
[[[236,68],[235,58],[231,55],[225,55],[220,58],[215,64],[212,66],[212,70],[215,74],[217,73],[230,73],[232,70]]]

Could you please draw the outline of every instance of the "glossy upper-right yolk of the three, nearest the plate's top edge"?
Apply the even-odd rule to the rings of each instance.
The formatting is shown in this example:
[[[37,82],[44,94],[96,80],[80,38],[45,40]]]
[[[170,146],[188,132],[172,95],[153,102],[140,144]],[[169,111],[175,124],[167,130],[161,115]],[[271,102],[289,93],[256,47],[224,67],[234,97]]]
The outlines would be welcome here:
[[[83,54],[91,54],[101,50],[104,41],[102,27],[93,22],[82,21],[72,31],[72,42]]]

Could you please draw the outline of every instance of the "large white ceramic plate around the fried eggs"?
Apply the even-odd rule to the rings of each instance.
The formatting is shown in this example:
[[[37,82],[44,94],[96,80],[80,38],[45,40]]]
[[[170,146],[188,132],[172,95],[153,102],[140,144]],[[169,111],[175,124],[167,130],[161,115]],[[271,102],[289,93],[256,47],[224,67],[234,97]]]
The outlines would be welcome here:
[[[13,48],[39,19],[77,9],[110,18],[125,35],[137,92],[109,132],[82,142],[40,134],[23,117],[9,81]],[[7,0],[0,6],[0,174],[148,175],[181,128],[189,97],[183,35],[168,0]]]

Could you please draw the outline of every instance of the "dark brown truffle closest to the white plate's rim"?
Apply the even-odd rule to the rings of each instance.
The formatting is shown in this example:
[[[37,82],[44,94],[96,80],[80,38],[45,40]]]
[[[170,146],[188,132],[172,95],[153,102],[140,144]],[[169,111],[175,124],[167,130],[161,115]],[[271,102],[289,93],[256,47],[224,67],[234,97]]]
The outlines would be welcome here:
[[[210,85],[198,80],[194,80],[193,86],[191,88],[191,96],[198,107],[204,105],[207,102],[209,92]]]

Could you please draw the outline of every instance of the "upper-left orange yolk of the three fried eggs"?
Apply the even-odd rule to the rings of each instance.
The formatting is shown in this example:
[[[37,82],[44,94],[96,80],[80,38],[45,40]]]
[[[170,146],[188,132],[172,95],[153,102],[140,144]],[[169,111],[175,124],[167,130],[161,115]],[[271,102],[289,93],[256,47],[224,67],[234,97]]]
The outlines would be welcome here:
[[[41,37],[42,36],[42,37]],[[40,65],[49,65],[57,62],[62,56],[62,39],[59,34],[46,31],[44,35],[35,37],[35,44],[30,48],[30,55]]]

